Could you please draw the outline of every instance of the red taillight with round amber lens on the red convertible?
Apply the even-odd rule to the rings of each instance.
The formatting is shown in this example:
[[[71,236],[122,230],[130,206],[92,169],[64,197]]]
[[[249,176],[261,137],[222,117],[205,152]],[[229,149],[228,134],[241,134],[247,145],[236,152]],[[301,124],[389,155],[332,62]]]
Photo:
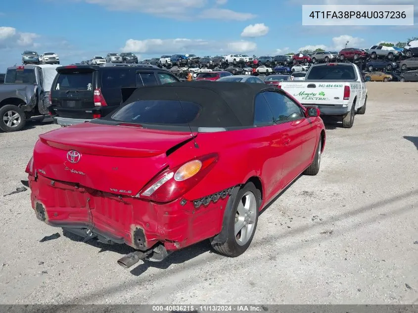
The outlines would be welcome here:
[[[136,197],[159,203],[178,199],[203,179],[217,161],[217,154],[209,154],[167,169],[151,179]]]

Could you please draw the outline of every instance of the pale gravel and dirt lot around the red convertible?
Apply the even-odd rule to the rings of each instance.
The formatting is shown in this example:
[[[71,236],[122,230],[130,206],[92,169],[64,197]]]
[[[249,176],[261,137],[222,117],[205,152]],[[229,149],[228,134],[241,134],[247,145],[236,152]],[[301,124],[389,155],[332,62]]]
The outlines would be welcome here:
[[[418,84],[368,89],[352,129],[327,124],[318,176],[271,204],[234,259],[202,242],[121,268],[128,249],[63,236],[36,219],[29,190],[2,196],[56,126],[0,134],[0,303],[418,303]]]

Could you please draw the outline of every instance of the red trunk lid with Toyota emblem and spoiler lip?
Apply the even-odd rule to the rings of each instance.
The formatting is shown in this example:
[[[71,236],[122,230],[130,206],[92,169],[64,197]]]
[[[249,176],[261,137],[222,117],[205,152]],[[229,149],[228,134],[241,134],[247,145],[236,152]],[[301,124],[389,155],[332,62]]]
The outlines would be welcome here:
[[[167,150],[191,135],[84,123],[41,134],[40,138],[34,148],[38,175],[135,195],[168,166]],[[71,150],[76,151],[73,158],[68,155]]]

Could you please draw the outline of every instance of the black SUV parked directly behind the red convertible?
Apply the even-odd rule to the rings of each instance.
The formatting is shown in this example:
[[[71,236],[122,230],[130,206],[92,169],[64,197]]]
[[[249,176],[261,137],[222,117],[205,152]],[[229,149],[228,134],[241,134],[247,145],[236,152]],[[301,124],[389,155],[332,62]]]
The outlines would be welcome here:
[[[115,110],[124,93],[142,86],[180,80],[152,65],[69,65],[56,68],[49,114],[55,124],[68,126],[103,117]]]

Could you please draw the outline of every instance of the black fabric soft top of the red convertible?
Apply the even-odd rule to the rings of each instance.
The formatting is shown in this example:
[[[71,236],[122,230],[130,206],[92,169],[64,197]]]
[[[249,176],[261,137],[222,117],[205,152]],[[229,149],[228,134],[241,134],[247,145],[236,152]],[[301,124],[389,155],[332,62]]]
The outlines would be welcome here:
[[[283,92],[265,84],[180,82],[136,89],[124,105],[140,100],[180,100],[199,104],[191,127],[246,127],[254,123],[254,98],[261,91]]]

